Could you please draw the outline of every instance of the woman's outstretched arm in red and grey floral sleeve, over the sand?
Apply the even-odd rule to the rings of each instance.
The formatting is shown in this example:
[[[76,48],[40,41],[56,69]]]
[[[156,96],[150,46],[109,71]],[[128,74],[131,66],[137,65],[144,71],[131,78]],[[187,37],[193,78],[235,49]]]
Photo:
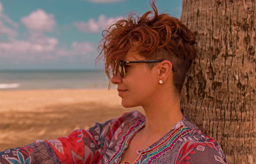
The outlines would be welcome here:
[[[0,163],[93,163],[100,159],[109,122],[96,123],[88,130],[75,130],[67,137],[56,140],[36,140],[24,147],[6,149],[0,153]]]

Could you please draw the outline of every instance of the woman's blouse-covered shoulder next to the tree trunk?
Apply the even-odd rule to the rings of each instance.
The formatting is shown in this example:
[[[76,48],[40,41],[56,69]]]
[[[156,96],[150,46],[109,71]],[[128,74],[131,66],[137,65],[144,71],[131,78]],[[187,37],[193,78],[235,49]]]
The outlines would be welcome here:
[[[190,123],[186,118],[184,125],[189,128],[189,133],[179,138],[180,145],[177,163],[227,163],[224,153],[217,140],[208,137],[198,129],[195,124]]]

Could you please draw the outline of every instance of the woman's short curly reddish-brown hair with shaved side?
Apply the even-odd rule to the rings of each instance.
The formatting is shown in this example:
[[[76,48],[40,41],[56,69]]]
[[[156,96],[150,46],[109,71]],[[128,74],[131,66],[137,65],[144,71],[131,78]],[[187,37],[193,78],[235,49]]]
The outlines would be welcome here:
[[[118,20],[102,32],[100,54],[104,58],[105,71],[118,71],[120,59],[129,50],[136,50],[145,59],[164,59],[173,64],[173,84],[180,93],[186,73],[195,59],[195,36],[178,19],[167,13],[158,14],[155,0],[150,2],[153,11],[147,11],[141,17],[130,13],[128,19]],[[148,64],[150,68],[154,64]]]

